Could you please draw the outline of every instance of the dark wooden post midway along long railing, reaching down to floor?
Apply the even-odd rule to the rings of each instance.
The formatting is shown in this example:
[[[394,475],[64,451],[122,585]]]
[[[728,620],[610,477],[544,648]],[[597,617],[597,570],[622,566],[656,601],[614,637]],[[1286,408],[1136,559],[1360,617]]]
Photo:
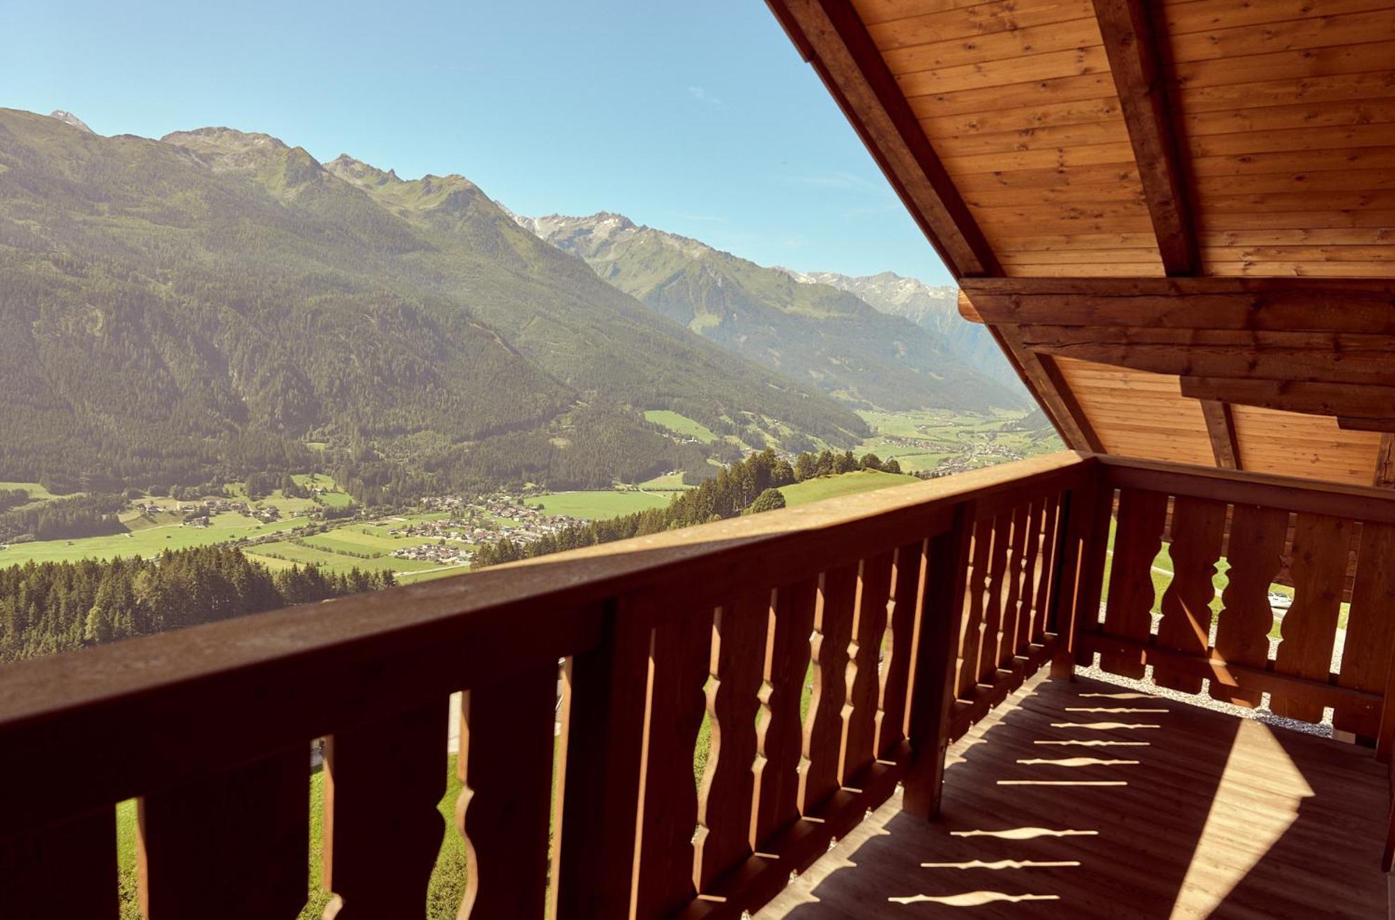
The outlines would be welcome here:
[[[901,810],[926,820],[940,811],[974,512],[972,502],[956,507],[950,528],[926,542],[921,565],[923,602],[911,659],[911,764]]]

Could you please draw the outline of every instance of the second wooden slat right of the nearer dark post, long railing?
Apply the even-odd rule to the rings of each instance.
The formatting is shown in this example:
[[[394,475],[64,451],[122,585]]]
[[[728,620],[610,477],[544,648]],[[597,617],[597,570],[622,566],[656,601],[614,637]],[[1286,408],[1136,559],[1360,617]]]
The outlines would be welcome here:
[[[699,892],[710,889],[721,873],[752,852],[757,694],[773,599],[771,591],[737,598],[721,605],[713,622],[707,682],[711,746],[698,789],[693,836],[693,884]]]

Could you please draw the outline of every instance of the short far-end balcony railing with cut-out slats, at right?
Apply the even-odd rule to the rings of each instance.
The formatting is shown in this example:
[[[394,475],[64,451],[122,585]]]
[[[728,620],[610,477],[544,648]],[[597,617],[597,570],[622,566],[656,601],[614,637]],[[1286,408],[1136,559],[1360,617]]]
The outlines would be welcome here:
[[[1131,679],[1151,665],[1148,680],[1161,687],[1201,693],[1207,680],[1209,696],[1225,703],[1253,708],[1268,694],[1276,715],[1320,722],[1327,708],[1339,733],[1388,735],[1381,714],[1395,637],[1395,492],[1099,460],[1087,567],[1091,584],[1108,574],[1108,588],[1102,609],[1098,590],[1083,598],[1080,664],[1098,654],[1102,670]],[[1293,604],[1276,616],[1269,590],[1281,570]]]

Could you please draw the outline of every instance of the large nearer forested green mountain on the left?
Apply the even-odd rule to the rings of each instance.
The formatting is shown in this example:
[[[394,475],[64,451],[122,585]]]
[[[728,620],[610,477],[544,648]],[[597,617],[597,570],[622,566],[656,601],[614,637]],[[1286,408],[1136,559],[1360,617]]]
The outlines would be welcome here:
[[[644,408],[721,434],[841,445],[865,429],[605,284],[462,177],[3,109],[0,367],[0,478],[17,480],[197,482],[300,463],[312,440],[377,485],[608,481],[702,464]]]

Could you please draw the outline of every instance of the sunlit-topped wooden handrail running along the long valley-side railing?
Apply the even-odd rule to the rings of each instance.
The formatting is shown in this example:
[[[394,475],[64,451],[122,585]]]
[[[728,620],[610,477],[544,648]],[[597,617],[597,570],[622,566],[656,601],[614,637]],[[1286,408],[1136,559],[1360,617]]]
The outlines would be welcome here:
[[[1070,488],[1092,463],[1036,457],[7,666],[0,750],[24,756],[0,761],[4,829],[229,769],[504,679],[520,662],[594,648],[607,598],[720,602],[732,584],[773,587],[942,532],[960,502]]]

